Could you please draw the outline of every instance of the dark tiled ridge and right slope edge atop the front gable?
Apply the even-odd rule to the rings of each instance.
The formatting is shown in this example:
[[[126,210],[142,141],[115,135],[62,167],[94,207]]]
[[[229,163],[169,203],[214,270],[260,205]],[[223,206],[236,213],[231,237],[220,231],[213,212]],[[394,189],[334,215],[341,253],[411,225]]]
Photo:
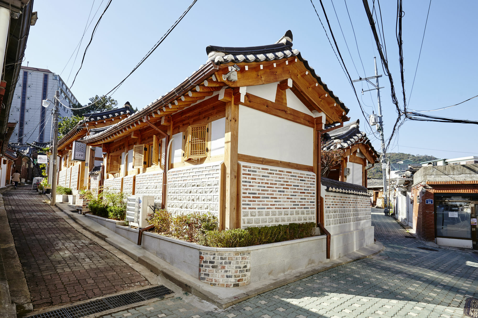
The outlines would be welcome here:
[[[339,105],[345,114],[348,114],[349,109],[344,103],[338,99],[336,95],[327,87],[322,81],[319,75],[315,74],[315,70],[310,67],[309,62],[302,58],[301,53],[297,49],[292,48],[292,32],[291,30],[285,32],[284,36],[275,44],[261,45],[261,46],[249,46],[249,47],[222,47],[209,45],[206,47],[206,53],[208,61],[212,61],[215,64],[223,63],[241,63],[241,62],[264,62],[264,61],[276,61],[291,56],[297,56],[297,58],[304,63],[310,74],[315,77],[317,82],[324,87],[324,90],[335,99],[337,105]]]

